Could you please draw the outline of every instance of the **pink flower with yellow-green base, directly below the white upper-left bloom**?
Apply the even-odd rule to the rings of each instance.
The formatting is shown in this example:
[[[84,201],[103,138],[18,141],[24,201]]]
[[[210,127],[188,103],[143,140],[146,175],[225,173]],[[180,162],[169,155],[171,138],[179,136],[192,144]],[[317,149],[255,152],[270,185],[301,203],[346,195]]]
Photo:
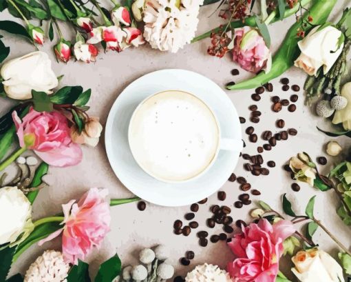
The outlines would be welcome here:
[[[46,163],[58,167],[76,165],[82,160],[82,150],[73,143],[66,117],[60,112],[36,112],[30,108],[21,120],[12,112],[21,148],[34,150]]]

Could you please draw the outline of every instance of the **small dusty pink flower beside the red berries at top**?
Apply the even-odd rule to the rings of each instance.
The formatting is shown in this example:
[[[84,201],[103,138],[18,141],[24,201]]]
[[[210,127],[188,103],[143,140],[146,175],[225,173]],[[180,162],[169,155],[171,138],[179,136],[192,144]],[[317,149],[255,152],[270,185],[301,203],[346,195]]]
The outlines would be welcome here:
[[[235,28],[232,51],[233,61],[239,63],[244,70],[259,72],[265,68],[269,72],[272,61],[270,50],[255,28]]]

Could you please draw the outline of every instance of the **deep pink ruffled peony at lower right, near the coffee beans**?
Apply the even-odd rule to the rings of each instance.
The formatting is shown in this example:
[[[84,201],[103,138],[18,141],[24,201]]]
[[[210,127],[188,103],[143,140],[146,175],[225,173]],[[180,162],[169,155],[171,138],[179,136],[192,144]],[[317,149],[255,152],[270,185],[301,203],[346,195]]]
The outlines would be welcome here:
[[[279,271],[283,242],[295,232],[290,221],[271,225],[266,219],[242,227],[229,247],[237,258],[228,263],[228,272],[235,282],[274,282]]]

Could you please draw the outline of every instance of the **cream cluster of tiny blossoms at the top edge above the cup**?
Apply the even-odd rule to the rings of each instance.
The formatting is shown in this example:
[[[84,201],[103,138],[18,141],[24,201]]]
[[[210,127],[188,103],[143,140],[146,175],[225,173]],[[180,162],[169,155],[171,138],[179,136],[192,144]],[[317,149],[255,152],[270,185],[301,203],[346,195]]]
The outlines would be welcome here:
[[[144,37],[152,48],[177,52],[190,43],[198,27],[203,0],[150,0],[145,3]]]

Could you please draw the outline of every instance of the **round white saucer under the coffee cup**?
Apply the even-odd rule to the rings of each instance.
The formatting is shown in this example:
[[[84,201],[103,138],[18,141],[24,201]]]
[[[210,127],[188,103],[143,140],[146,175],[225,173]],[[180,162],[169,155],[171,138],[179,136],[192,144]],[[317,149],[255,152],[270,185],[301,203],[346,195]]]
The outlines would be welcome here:
[[[107,157],[118,179],[138,197],[158,205],[189,205],[222,187],[233,172],[239,153],[221,150],[204,175],[184,183],[165,183],[144,172],[129,148],[129,120],[142,100],[164,90],[182,90],[199,97],[215,112],[222,138],[242,139],[237,111],[220,86],[189,70],[158,70],[129,84],[112,105],[105,130]]]

